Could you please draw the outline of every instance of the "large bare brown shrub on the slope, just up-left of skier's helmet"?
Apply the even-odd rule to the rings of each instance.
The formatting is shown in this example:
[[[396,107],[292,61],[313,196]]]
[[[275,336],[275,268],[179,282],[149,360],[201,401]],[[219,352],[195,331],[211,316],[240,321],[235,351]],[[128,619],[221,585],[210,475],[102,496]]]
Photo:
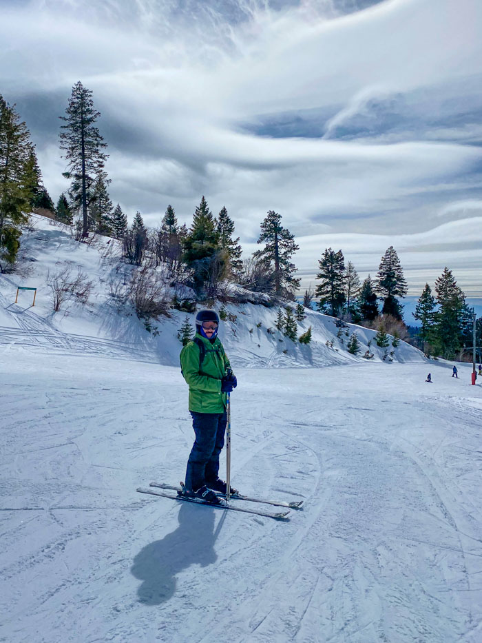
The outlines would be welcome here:
[[[170,298],[162,273],[148,267],[137,270],[129,283],[127,296],[139,319],[169,317]]]

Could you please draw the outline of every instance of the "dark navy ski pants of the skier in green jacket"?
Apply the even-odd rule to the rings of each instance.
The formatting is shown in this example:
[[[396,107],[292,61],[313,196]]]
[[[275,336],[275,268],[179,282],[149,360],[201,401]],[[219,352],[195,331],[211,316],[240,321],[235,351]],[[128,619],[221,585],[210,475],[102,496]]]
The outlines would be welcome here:
[[[197,491],[218,479],[219,456],[224,447],[226,413],[195,413],[191,411],[196,440],[187,460],[186,488]]]

